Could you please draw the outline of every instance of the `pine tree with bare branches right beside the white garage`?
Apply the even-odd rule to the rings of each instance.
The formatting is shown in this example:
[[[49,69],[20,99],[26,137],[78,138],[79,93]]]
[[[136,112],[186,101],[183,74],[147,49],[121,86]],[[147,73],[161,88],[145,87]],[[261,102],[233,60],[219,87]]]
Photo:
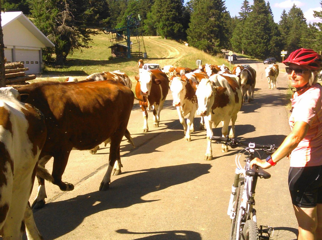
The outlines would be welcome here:
[[[90,34],[96,32],[84,25],[84,1],[29,0],[33,23],[55,44],[44,51],[45,61],[55,53],[56,64],[62,65],[75,49],[89,47]]]

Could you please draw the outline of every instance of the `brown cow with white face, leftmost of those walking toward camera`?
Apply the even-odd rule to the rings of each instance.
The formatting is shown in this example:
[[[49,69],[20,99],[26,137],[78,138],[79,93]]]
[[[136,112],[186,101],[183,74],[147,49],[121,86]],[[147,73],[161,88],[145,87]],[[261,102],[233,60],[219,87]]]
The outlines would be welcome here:
[[[139,99],[140,107],[143,111],[143,132],[147,133],[147,110],[153,108],[153,125],[159,127],[160,112],[169,91],[169,79],[165,73],[159,69],[143,71],[139,77],[135,76],[137,86],[135,94]]]

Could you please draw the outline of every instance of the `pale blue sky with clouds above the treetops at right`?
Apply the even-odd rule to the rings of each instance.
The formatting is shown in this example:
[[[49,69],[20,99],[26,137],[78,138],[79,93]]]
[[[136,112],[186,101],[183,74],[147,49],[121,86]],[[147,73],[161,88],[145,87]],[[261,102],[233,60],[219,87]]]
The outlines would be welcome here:
[[[244,0],[225,0],[227,11],[229,11],[231,17],[239,16],[243,2]],[[250,5],[253,4],[253,0],[248,0],[248,2]],[[322,22],[322,19],[313,17],[313,10],[322,11],[321,0],[265,0],[265,2],[270,2],[270,8],[276,23],[280,21],[283,10],[285,9],[286,13],[288,13],[293,4],[302,10],[307,23]]]

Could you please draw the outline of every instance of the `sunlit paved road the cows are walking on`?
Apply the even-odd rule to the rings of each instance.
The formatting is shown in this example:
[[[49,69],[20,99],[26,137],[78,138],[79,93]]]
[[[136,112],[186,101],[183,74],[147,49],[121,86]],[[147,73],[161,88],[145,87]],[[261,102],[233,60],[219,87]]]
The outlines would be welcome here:
[[[246,59],[237,63],[250,64],[257,71],[254,101],[245,103],[238,114],[238,137],[279,145],[289,133],[288,113],[282,104],[282,93],[287,89],[285,73],[278,77],[278,89],[269,90],[265,65]],[[199,120],[196,117],[195,124]],[[226,212],[237,150],[222,153],[220,146],[213,144],[213,160],[203,160],[206,132],[196,131],[191,142],[184,141],[171,93],[161,112],[160,127],[153,128],[152,112],[148,124],[150,132],[142,133],[142,112],[135,104],[128,129],[136,148],[122,142],[123,173],[112,176],[108,191],[98,189],[107,170],[109,147],[101,145],[95,155],[71,152],[63,181],[73,183],[75,189],[61,192],[47,183],[46,206],[34,212],[45,239],[228,239],[230,219]],[[220,135],[221,128],[214,132]],[[51,170],[52,160],[47,165]],[[296,239],[288,168],[284,159],[269,169],[270,179],[258,181],[258,223],[275,228],[273,239]],[[31,201],[36,191],[37,185]]]

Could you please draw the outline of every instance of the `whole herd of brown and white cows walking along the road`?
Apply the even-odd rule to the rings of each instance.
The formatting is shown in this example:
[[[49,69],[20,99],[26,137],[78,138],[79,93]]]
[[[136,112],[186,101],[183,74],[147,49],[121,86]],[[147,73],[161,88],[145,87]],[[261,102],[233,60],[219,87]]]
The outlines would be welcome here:
[[[141,60],[140,60],[141,61]],[[139,68],[140,64],[139,61]],[[265,68],[269,88],[276,88],[277,64]],[[198,69],[165,66],[163,70],[140,70],[135,77],[135,95],[143,112],[143,132],[148,132],[147,111],[153,110],[154,127],[170,91],[185,140],[191,141],[194,115],[201,116],[200,128],[207,131],[205,160],[212,159],[212,124],[223,123],[222,134],[235,136],[237,113],[246,100],[254,99],[256,71],[235,66],[203,65]],[[3,239],[42,239],[31,208],[45,204],[45,181],[71,191],[73,184],[62,182],[73,148],[95,153],[100,143],[110,143],[109,166],[99,190],[109,188],[111,175],[121,173],[120,143],[125,136],[134,104],[132,81],[120,71],[93,73],[85,80],[43,81],[0,88],[0,236]],[[247,94],[248,93],[248,94]],[[187,119],[185,120],[185,116]],[[88,131],[90,129],[90,131]],[[224,152],[227,146],[222,147]],[[53,157],[52,174],[44,168]],[[32,206],[29,198],[34,179],[38,195]]]

